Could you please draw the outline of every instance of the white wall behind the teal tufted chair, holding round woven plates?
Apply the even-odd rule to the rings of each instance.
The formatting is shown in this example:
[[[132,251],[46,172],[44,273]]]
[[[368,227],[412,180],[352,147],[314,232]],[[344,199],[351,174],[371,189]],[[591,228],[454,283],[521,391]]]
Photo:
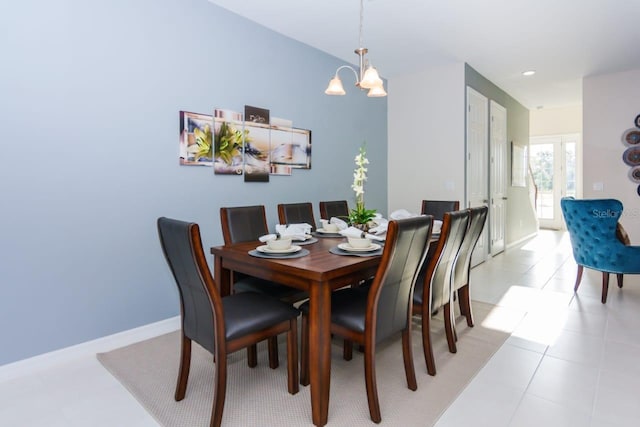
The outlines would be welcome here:
[[[622,161],[621,137],[640,114],[640,69],[583,80],[584,197],[616,198],[624,204],[621,219],[633,244],[640,244],[638,184]],[[594,184],[602,183],[602,191]]]

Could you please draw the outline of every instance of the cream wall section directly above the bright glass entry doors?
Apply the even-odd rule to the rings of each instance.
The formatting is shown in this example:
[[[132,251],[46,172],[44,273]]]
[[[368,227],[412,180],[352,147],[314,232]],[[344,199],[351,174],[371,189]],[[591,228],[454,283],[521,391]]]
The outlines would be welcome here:
[[[582,133],[582,105],[531,110],[529,132],[531,136]]]

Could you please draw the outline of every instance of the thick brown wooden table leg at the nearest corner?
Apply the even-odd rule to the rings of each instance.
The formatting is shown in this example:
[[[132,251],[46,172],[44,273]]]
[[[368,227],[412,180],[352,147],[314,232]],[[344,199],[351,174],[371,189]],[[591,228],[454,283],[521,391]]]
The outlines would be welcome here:
[[[313,283],[309,290],[309,380],[313,424],[327,424],[331,383],[331,288]]]

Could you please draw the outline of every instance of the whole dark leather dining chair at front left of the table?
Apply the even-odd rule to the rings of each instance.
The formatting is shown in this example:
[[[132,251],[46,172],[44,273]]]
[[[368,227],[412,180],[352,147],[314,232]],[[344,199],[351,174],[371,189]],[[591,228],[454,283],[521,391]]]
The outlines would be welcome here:
[[[297,318],[289,304],[254,292],[221,297],[202,249],[197,224],[159,218],[158,234],[180,294],[181,352],[175,400],[184,399],[195,341],[214,355],[212,427],[222,423],[227,388],[227,355],[287,333],[288,390],[298,385]],[[268,395],[265,395],[268,399]]]

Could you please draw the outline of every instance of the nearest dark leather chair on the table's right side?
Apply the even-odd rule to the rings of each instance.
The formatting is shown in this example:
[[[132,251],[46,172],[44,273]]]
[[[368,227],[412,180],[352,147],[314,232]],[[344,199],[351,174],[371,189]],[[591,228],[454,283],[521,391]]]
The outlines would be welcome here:
[[[383,340],[402,334],[407,387],[418,388],[411,344],[411,298],[424,261],[433,217],[390,221],[382,259],[370,286],[343,288],[331,295],[331,332],[364,345],[364,371],[371,419],[382,419],[376,385],[375,351]],[[308,303],[302,311],[300,382],[309,384]]]

